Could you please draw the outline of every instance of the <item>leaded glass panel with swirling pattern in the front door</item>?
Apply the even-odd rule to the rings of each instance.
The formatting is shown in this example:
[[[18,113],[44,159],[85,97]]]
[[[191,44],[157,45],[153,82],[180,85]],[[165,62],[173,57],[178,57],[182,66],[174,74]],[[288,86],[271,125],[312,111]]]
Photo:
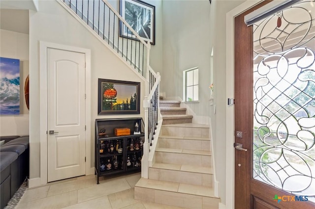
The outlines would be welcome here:
[[[315,1],[253,26],[253,178],[315,202]]]

